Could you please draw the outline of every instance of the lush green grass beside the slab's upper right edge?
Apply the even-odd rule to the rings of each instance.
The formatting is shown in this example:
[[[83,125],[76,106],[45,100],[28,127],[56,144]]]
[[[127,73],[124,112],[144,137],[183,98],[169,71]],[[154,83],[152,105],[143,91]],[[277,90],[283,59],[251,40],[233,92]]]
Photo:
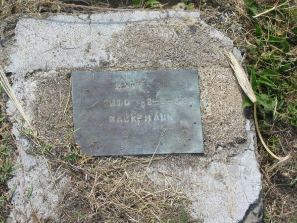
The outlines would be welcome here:
[[[290,1],[281,1],[280,3]],[[297,10],[284,4],[258,18],[270,6],[246,0],[253,28],[249,30],[248,71],[258,101],[261,126],[277,121],[297,127]]]

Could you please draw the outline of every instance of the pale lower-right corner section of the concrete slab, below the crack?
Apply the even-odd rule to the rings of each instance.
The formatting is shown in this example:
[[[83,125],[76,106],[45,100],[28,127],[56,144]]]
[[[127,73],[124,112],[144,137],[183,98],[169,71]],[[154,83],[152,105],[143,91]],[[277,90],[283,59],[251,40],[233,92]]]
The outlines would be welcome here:
[[[208,160],[209,165],[184,168],[186,161],[171,159],[153,164],[148,174],[158,182],[160,188],[164,187],[166,180],[159,171],[180,177],[179,181],[170,177],[168,180],[176,190],[183,188],[186,191],[187,198],[191,200],[186,207],[187,213],[196,221],[260,222],[261,174],[256,161],[255,129],[249,119],[246,120],[246,130],[247,141],[230,145],[233,148],[242,148],[240,154],[226,158],[226,163],[211,161],[209,157],[196,157],[197,163]]]

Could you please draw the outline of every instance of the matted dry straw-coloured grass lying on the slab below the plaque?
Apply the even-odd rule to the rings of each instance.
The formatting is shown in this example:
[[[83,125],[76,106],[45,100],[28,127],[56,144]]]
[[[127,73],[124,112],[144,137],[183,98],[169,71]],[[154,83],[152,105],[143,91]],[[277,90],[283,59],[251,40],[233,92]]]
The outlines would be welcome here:
[[[75,164],[58,159],[51,162],[62,167],[72,185],[61,204],[62,222],[77,218],[110,223],[179,222],[183,194],[168,183],[162,187],[154,183],[146,173],[150,157],[81,157]]]

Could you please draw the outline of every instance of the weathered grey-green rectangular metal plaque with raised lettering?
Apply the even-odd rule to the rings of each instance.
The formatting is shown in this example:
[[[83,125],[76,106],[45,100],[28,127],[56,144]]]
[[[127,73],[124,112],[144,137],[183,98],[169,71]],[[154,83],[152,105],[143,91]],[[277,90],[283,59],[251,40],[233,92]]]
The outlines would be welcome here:
[[[71,84],[83,154],[203,152],[197,69],[78,71]]]

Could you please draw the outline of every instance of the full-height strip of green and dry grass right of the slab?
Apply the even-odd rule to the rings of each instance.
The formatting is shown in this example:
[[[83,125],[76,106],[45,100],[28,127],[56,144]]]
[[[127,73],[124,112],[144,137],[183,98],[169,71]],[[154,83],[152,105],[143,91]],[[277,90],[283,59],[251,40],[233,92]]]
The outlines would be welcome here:
[[[292,210],[296,207],[294,185],[297,179],[294,145],[297,132],[297,4],[293,0],[280,0],[277,5],[269,5],[268,1],[261,3],[259,0],[245,2],[249,24],[246,33],[247,69],[257,98],[260,130],[276,155],[293,156],[270,173],[266,170],[275,160],[260,146],[263,222],[293,223],[296,222],[296,213]],[[276,9],[253,18],[274,6]],[[251,102],[246,99],[244,106],[249,105]],[[279,182],[291,187],[279,187]]]

